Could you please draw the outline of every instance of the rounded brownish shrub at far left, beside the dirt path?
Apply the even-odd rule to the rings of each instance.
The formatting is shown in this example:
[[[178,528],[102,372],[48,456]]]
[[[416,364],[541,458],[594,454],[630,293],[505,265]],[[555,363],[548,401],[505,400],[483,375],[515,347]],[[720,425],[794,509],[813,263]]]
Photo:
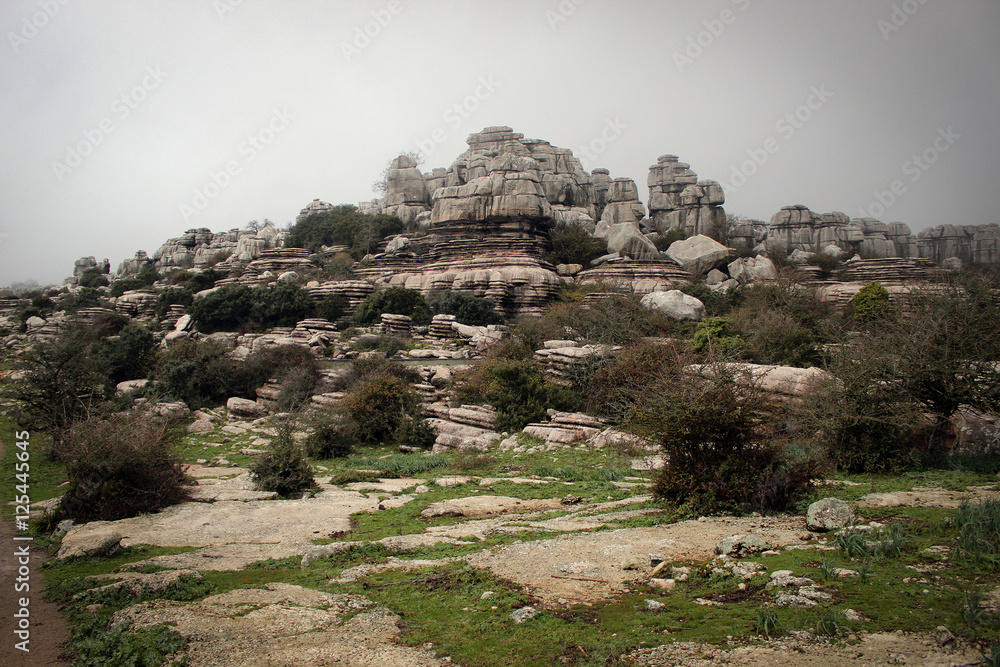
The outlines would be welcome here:
[[[187,487],[172,448],[166,426],[146,415],[80,422],[57,452],[69,477],[61,513],[115,521],[181,502]]]

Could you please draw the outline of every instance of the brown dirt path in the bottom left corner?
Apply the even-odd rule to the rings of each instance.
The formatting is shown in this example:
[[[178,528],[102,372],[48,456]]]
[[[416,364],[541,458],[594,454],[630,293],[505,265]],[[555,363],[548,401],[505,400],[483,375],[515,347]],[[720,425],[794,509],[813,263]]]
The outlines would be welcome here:
[[[4,456],[4,446],[0,442],[0,459]],[[4,502],[9,499],[5,498]],[[31,573],[28,582],[31,590],[27,593],[14,590],[19,564],[14,555],[15,548],[27,542],[15,542],[17,533],[10,521],[0,521],[0,664],[11,667],[41,667],[43,665],[69,665],[59,659],[60,644],[66,640],[66,621],[59,613],[59,606],[42,599],[42,573],[39,571],[47,554],[34,543],[30,550]],[[20,608],[18,600],[28,596],[31,627],[28,653],[14,647],[18,640],[14,636],[15,610]]]

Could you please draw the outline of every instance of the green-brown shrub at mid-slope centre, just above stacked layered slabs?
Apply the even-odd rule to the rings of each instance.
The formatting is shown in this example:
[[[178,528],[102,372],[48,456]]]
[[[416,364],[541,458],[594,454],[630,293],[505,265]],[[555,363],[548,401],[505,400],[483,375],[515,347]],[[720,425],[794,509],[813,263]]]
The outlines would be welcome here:
[[[496,408],[498,431],[520,431],[541,421],[549,408],[576,407],[572,394],[546,381],[532,362],[499,357],[490,357],[462,376],[458,395],[464,401]]]

